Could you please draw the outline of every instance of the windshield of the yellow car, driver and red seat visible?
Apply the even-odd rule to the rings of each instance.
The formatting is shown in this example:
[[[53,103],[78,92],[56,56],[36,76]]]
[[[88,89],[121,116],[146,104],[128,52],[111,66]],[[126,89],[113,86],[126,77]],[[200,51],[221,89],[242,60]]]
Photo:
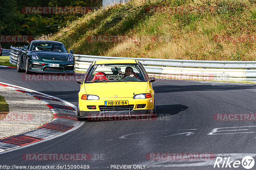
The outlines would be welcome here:
[[[146,78],[138,64],[101,64],[90,69],[85,83],[111,81],[146,81]]]

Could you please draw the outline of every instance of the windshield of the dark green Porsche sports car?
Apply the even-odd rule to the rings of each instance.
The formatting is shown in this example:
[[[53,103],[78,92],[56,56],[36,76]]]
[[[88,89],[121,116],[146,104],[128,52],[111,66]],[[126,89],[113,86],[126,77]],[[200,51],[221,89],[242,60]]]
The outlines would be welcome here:
[[[53,51],[68,53],[66,47],[59,43],[33,43],[31,46],[32,51]]]

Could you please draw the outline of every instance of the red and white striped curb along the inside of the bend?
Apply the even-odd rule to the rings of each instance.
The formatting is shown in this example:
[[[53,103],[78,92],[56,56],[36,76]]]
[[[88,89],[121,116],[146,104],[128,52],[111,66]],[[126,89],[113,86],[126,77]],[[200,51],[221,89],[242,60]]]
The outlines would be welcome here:
[[[54,116],[52,121],[44,124],[41,127],[38,127],[37,129],[14,135],[12,137],[0,139],[1,153],[4,151],[6,152],[7,150],[18,148],[20,146],[42,141],[44,139],[50,140],[52,137],[58,137],[62,133],[73,131],[83,124],[77,121],[77,107],[65,100],[7,83],[0,82],[0,86],[20,91],[29,96],[35,97],[36,99],[46,104],[52,110]]]

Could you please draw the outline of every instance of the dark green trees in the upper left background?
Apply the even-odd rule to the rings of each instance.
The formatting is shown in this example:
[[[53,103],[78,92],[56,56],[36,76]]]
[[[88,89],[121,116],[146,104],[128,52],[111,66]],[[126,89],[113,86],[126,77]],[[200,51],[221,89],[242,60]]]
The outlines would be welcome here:
[[[55,33],[67,22],[83,16],[81,12],[42,12],[32,10],[44,8],[88,7],[88,9],[101,6],[102,0],[1,0],[0,1],[0,41],[4,48],[10,46],[28,45],[27,42],[6,42],[2,36],[26,35],[38,37],[42,34]],[[30,10],[26,10],[26,9]],[[28,12],[30,11],[30,12]],[[40,12],[41,11],[41,12]],[[52,10],[53,11],[53,10]]]

